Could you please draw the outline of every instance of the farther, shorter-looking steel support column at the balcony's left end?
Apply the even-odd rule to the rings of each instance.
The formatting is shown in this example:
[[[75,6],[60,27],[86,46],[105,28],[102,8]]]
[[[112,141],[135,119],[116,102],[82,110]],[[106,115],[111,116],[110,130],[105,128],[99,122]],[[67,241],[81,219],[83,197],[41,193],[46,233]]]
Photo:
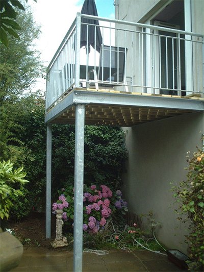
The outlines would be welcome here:
[[[52,125],[47,125],[46,143],[46,238],[51,238]]]

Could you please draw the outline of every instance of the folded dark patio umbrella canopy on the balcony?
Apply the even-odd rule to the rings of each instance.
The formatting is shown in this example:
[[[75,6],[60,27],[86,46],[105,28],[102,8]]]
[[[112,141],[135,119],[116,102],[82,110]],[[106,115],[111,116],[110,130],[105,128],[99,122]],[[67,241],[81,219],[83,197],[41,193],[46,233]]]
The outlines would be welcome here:
[[[94,0],[85,0],[82,7],[82,14],[88,14],[93,16],[98,16],[96,5]],[[82,18],[83,23],[91,23],[99,26],[98,20]],[[87,25],[82,24],[81,26],[81,47],[87,45]],[[102,44],[102,36],[100,33],[100,28],[95,26],[88,27],[88,52],[90,52],[90,45],[96,50],[100,51],[100,45]],[[96,28],[96,40],[95,40],[95,28]]]

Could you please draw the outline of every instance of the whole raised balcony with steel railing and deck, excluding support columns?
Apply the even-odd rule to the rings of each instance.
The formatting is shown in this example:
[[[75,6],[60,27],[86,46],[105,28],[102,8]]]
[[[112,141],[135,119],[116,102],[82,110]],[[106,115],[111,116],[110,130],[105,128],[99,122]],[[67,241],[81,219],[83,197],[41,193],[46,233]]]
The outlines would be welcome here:
[[[203,110],[203,48],[201,34],[78,13],[47,68],[45,121],[74,123],[79,103],[90,125],[131,127]]]

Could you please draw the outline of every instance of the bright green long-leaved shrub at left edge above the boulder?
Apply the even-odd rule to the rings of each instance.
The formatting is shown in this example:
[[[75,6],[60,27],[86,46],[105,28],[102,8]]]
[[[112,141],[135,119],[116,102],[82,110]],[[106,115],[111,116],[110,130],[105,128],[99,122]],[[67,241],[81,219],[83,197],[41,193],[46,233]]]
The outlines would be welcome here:
[[[9,210],[13,201],[22,195],[23,184],[28,181],[24,179],[26,173],[23,167],[13,169],[10,161],[0,161],[0,217],[9,218]]]

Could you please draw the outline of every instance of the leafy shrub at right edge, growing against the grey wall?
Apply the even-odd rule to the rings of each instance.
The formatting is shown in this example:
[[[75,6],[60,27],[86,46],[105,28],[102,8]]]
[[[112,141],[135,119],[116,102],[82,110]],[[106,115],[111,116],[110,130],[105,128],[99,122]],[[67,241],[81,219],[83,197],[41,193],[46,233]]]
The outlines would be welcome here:
[[[187,181],[180,182],[179,186],[174,186],[174,196],[179,209],[179,214],[185,214],[184,219],[190,221],[189,235],[187,242],[190,249],[190,258],[193,262],[193,269],[203,268],[203,185],[204,185],[204,153],[197,149],[192,157],[188,154],[188,175]],[[178,219],[182,220],[181,217]]]

